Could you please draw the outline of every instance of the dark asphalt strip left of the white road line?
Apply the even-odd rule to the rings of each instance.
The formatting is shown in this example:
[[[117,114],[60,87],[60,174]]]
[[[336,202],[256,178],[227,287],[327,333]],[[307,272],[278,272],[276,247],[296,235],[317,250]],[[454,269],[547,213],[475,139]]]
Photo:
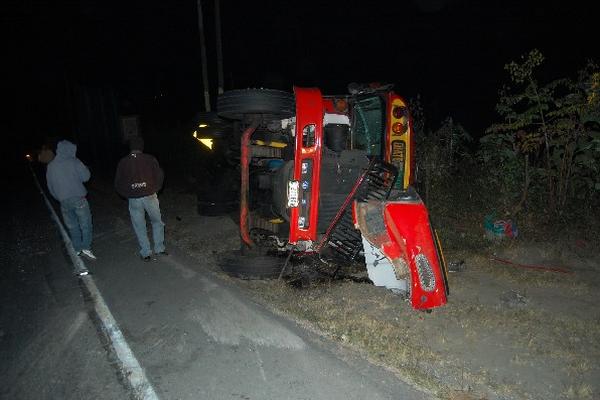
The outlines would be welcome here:
[[[26,165],[0,196],[0,399],[126,399]]]

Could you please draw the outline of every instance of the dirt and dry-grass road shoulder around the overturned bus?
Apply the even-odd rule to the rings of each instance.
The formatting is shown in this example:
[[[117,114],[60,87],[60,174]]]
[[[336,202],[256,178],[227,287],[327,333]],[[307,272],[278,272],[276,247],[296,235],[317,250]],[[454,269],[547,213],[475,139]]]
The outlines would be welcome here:
[[[481,247],[482,227],[446,228],[442,237],[456,235],[446,259],[464,263],[450,273],[448,305],[427,314],[366,282],[298,289],[229,278],[217,263],[239,249],[235,221],[198,215],[195,196],[182,190],[165,190],[161,208],[168,241],[274,311],[440,398],[600,399],[597,243],[519,237]]]

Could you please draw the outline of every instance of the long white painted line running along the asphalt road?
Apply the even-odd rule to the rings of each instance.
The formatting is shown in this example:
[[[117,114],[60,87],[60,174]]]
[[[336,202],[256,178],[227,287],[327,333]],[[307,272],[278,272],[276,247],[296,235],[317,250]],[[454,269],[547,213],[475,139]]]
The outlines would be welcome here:
[[[96,313],[96,316],[102,324],[104,334],[109,339],[109,346],[111,346],[112,350],[114,351],[115,355],[117,356],[117,359],[121,364],[121,373],[129,382],[129,385],[133,390],[134,397],[140,400],[158,400],[158,396],[156,395],[154,388],[152,387],[150,381],[146,377],[146,374],[140,366],[140,363],[138,362],[137,358],[135,358],[133,351],[131,351],[131,348],[127,344],[127,341],[125,340],[121,329],[119,329],[117,321],[114,319],[112,313],[108,309],[108,306],[102,298],[102,294],[100,293],[100,290],[98,290],[94,279],[90,275],[88,275],[88,269],[85,266],[83,260],[77,254],[75,254],[75,250],[73,249],[71,239],[69,238],[69,235],[67,234],[67,231],[65,230],[62,222],[58,218],[54,207],[52,207],[52,204],[48,200],[48,196],[46,196],[46,193],[42,190],[42,187],[40,186],[35,172],[31,168],[31,166],[29,166],[29,169],[31,171],[31,174],[33,175],[35,185],[37,186],[42,197],[44,198],[44,201],[46,202],[46,205],[50,210],[54,222],[58,226],[58,230],[60,231],[63,241],[65,242],[65,246],[67,248],[67,252],[69,253],[69,257],[71,257],[71,261],[73,262],[75,273],[77,273],[77,275],[80,276],[82,282],[84,283],[86,289],[90,294],[90,298],[94,304],[94,311]]]

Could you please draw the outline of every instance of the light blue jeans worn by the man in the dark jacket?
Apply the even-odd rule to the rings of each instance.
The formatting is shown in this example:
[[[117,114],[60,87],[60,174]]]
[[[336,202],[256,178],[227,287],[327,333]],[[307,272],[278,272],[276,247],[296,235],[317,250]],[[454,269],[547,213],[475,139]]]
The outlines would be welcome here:
[[[129,215],[131,224],[140,244],[140,255],[148,257],[152,254],[150,241],[148,240],[148,229],[146,227],[146,213],[152,223],[152,240],[154,241],[154,252],[165,251],[165,224],[160,217],[160,205],[156,193],[137,199],[129,199]]]

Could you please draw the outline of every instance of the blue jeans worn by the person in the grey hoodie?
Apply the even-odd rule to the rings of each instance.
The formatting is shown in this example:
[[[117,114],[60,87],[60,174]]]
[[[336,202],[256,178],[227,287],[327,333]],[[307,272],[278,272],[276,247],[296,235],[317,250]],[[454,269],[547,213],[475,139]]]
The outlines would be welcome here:
[[[92,213],[85,197],[70,197],[60,202],[63,221],[69,230],[69,236],[75,252],[91,250]]]

